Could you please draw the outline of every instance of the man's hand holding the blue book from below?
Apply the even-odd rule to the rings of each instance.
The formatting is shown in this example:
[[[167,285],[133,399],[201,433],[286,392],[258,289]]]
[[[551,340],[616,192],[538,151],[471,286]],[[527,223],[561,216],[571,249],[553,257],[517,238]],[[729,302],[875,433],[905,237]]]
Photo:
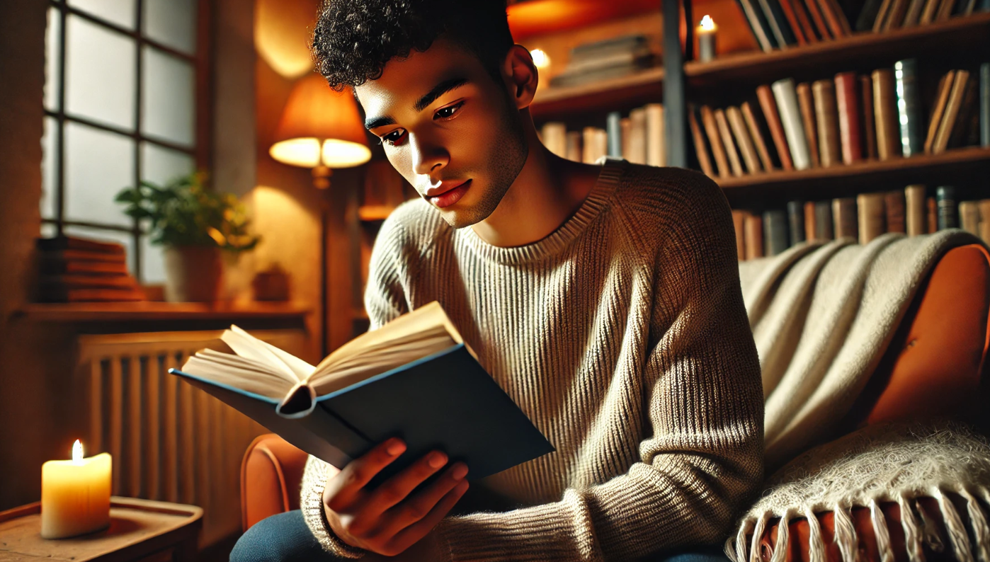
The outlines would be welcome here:
[[[406,450],[400,439],[380,443],[331,476],[323,509],[337,536],[351,546],[395,556],[426,536],[467,491],[467,466],[457,462],[430,486],[417,486],[444,468],[446,454],[432,451],[374,490],[364,487]]]

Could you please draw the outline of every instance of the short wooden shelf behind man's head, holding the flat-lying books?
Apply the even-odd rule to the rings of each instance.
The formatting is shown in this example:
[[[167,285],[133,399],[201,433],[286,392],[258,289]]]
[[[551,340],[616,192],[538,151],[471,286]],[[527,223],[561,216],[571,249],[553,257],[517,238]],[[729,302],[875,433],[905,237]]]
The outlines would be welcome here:
[[[538,90],[530,109],[535,119],[547,121],[659,102],[662,93],[663,68],[657,66],[613,80]]]

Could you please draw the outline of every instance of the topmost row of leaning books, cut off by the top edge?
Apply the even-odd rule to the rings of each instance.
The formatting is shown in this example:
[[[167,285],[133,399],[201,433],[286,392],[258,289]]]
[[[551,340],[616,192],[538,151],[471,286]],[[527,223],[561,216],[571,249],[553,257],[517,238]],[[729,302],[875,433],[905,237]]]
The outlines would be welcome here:
[[[837,0],[736,0],[756,44],[765,51],[852,35]],[[882,33],[990,11],[990,0],[865,0],[852,7],[856,32]]]

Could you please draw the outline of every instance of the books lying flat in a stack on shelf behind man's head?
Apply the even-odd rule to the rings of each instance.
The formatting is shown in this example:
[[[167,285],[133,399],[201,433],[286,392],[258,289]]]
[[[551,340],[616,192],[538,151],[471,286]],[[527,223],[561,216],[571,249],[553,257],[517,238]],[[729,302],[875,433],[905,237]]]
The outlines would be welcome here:
[[[645,36],[625,36],[589,43],[570,50],[564,71],[550,78],[550,86],[580,86],[635,74],[653,65],[654,55]]]

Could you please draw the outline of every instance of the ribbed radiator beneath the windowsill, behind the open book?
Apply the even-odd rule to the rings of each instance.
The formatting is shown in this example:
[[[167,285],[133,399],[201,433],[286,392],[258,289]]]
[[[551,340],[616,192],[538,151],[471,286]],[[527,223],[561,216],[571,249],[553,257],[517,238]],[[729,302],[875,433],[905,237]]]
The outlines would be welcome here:
[[[298,353],[301,330],[252,331]],[[203,508],[200,546],[241,530],[241,459],[266,430],[168,374],[203,347],[224,349],[219,331],[79,336],[87,377],[86,455],[113,456],[113,494]]]

